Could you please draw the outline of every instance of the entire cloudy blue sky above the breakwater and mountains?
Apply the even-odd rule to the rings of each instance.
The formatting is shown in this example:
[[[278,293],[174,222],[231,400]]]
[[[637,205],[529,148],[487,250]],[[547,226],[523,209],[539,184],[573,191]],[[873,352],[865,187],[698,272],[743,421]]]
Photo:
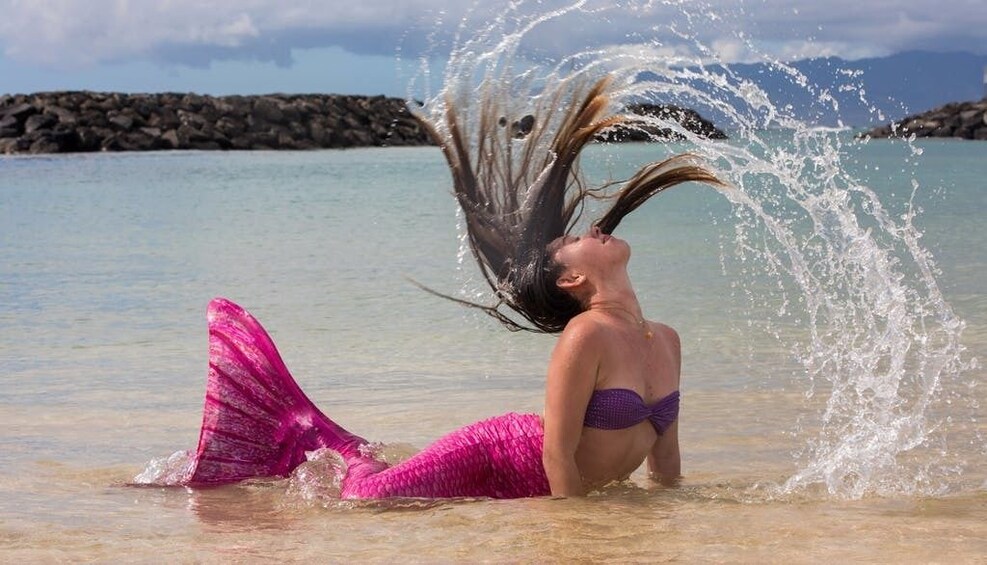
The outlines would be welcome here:
[[[418,61],[441,65],[457,33],[573,4],[526,48],[559,57],[643,40],[660,57],[698,43],[724,62],[987,55],[987,0],[0,0],[0,93],[404,96]]]

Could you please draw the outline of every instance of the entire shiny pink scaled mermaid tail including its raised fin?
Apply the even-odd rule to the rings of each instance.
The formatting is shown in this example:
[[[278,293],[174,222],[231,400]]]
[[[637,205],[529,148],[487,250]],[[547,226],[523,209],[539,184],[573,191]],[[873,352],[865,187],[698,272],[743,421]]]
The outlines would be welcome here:
[[[347,464],[344,498],[549,494],[537,415],[506,414],[471,424],[388,467],[361,453],[367,441],[330,420],[305,396],[253,316],[217,298],[209,304],[208,320],[202,431],[184,484],[285,477],[306,460],[305,452],[330,448]]]

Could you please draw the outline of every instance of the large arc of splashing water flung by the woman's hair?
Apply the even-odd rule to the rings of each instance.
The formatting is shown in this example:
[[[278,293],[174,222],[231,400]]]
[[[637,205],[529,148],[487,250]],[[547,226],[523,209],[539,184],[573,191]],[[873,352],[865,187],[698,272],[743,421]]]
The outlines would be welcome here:
[[[552,55],[539,42],[560,26],[592,28],[655,9],[662,10],[661,23],[633,45]],[[921,187],[911,181],[905,212],[893,213],[849,172],[847,153],[865,142],[850,139],[845,128],[796,119],[790,105],[779,107],[704,43],[711,30],[730,37],[749,59],[804,91],[820,115],[839,111],[834,90],[855,92],[867,103],[858,73],[837,73],[844,79],[837,85],[813,84],[731,28],[742,21],[742,12],[725,14],[702,2],[576,1],[554,8],[511,2],[492,22],[462,22],[442,89],[427,92],[422,73],[420,111],[448,135],[441,120],[447,105],[468,129],[477,127],[476,101],[484,99],[497,105],[505,123],[531,115],[555,131],[553,106],[565,104],[576,86],[610,75],[615,112],[643,101],[716,116],[731,132],[729,142],[704,139],[661,117],[645,120],[685,139],[729,181],[721,194],[733,205],[735,233],[724,269],[738,277],[751,325],[774,335],[799,362],[807,407],[827,396],[798,423],[804,445],[798,469],[774,492],[822,488],[850,498],[941,492],[945,477],[959,471],[938,456],[946,450],[945,404],[953,395],[943,393],[943,380],[959,382],[976,361],[963,358],[964,322],[943,297],[933,258],[920,243],[913,201]],[[870,110],[882,117],[873,105]],[[550,138],[519,139],[511,150],[545,152]],[[919,154],[911,148],[912,158]]]

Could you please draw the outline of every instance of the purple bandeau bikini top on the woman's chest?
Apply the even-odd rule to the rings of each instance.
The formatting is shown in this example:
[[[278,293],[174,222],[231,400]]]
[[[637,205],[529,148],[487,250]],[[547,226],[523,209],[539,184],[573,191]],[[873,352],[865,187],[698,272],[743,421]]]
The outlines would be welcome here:
[[[603,388],[593,391],[583,425],[601,430],[622,430],[651,420],[651,425],[661,435],[678,417],[677,390],[648,406],[640,394],[629,388]]]

